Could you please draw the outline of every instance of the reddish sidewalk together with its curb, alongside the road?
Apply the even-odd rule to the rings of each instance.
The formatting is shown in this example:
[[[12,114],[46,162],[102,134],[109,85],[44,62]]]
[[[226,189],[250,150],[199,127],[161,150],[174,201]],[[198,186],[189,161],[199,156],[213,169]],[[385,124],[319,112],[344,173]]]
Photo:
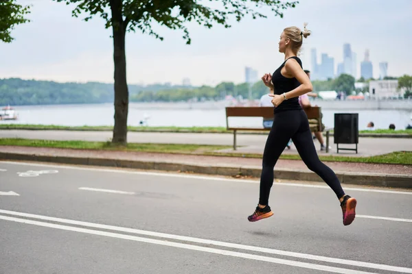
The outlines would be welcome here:
[[[259,158],[8,146],[0,146],[0,151],[0,160],[116,166],[235,177],[245,175],[258,178],[262,169],[262,159]],[[412,166],[347,162],[325,164],[334,170],[343,184],[412,188]],[[321,178],[309,171],[300,160],[279,160],[275,166],[275,178],[321,182]]]

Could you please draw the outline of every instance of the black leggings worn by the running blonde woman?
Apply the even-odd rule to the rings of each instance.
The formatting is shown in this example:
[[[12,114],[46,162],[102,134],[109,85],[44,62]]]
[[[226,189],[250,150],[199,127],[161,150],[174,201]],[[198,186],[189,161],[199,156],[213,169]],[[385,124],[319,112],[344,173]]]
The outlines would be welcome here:
[[[268,204],[269,193],[273,185],[273,168],[290,138],[308,169],[317,173],[332,188],[338,199],[345,195],[336,174],[319,160],[314,148],[308,116],[304,110],[286,110],[275,114],[271,132],[266,140],[260,176],[259,203],[262,206]]]

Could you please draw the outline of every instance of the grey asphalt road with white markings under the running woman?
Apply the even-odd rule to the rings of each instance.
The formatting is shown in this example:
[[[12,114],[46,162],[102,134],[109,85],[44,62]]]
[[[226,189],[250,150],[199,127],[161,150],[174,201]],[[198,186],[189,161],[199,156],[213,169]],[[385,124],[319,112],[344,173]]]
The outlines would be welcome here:
[[[36,172],[33,172],[36,171]],[[49,173],[39,173],[49,171]],[[412,273],[412,192],[0,162],[0,273]]]

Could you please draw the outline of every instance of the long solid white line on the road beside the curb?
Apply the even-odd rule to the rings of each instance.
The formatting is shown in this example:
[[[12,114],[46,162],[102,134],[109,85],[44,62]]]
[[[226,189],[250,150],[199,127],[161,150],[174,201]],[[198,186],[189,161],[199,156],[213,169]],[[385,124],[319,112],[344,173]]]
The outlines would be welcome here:
[[[17,164],[23,166],[48,166],[58,169],[74,169],[79,171],[100,171],[108,173],[126,173],[126,174],[137,174],[137,175],[150,175],[150,176],[161,176],[161,177],[179,177],[185,179],[205,179],[210,181],[222,181],[222,182],[236,182],[236,183],[249,183],[249,184],[259,184],[258,179],[227,179],[222,177],[211,176],[199,176],[199,175],[187,175],[187,174],[171,174],[171,173],[155,173],[155,172],[146,172],[146,171],[126,171],[119,169],[98,169],[98,168],[89,168],[89,167],[80,167],[80,166],[66,166],[66,165],[56,165],[56,164],[36,164],[36,163],[27,163],[27,162],[10,162],[10,161],[0,161],[2,164]],[[324,186],[320,184],[295,184],[295,183],[279,183],[274,182],[273,184],[278,186],[300,186],[304,188],[323,188],[330,189],[329,186]],[[362,192],[380,192],[380,193],[390,193],[390,194],[405,194],[412,195],[412,191],[398,191],[398,190],[385,190],[379,188],[345,188],[345,190],[352,191],[362,191]]]

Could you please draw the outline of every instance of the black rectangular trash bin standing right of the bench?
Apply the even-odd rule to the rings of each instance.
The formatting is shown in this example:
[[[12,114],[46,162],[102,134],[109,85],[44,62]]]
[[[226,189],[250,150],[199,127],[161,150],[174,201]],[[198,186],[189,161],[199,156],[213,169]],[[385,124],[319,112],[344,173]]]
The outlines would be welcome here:
[[[335,113],[333,138],[337,152],[339,150],[354,150],[358,153],[359,139],[359,114],[358,113]],[[340,148],[339,144],[355,144],[356,148]]]

